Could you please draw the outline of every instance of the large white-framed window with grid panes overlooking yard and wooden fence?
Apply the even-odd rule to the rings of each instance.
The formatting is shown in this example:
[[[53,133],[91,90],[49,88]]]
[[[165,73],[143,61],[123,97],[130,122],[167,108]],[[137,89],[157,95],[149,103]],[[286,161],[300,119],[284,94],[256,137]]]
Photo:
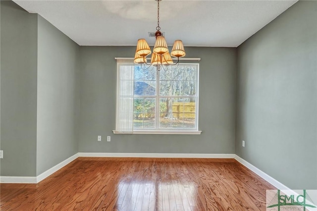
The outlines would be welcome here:
[[[114,133],[200,134],[199,64],[180,63],[157,72],[117,60]]]

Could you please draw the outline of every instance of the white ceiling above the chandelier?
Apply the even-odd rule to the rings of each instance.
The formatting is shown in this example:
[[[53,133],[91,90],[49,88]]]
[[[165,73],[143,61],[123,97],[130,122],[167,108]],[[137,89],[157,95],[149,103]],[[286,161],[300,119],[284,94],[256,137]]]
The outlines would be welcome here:
[[[297,0],[162,0],[161,32],[168,45],[238,47]],[[14,0],[38,13],[80,46],[154,45],[155,0]]]

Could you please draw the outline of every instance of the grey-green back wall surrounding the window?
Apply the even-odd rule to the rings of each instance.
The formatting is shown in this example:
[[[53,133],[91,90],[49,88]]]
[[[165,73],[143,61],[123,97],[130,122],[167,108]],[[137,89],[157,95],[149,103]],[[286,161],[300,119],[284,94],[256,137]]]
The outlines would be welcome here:
[[[116,60],[135,47],[81,47],[79,152],[234,154],[236,48],[186,48],[200,57],[201,135],[112,134],[115,129]],[[102,142],[97,142],[101,135]],[[111,142],[106,142],[111,136]]]

